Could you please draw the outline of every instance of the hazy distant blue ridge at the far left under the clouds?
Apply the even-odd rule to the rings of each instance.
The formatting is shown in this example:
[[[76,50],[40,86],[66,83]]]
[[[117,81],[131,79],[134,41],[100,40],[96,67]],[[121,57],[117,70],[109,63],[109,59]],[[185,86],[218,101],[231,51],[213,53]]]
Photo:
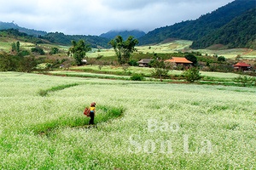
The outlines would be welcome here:
[[[19,30],[20,32],[26,33],[27,35],[32,35],[35,37],[44,36],[47,34],[46,31],[37,31],[37,30],[33,30],[33,29],[27,29],[24,27],[20,27],[17,24],[15,24],[14,22],[9,23],[9,22],[0,21],[0,30],[7,30],[7,29],[16,29],[16,30]]]

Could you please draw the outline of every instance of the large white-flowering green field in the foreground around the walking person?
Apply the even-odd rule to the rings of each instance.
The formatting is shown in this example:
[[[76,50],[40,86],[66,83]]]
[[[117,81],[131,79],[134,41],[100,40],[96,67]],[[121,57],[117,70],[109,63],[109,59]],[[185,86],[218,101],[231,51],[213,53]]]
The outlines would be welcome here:
[[[1,169],[256,168],[256,88],[0,72],[0,89]]]

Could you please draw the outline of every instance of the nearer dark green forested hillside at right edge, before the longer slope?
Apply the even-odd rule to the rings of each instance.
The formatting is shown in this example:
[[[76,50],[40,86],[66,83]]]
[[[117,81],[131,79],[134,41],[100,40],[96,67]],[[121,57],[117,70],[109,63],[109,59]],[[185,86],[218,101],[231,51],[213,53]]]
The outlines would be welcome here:
[[[192,43],[192,48],[221,44],[226,48],[256,48],[256,8],[231,20],[230,23]]]

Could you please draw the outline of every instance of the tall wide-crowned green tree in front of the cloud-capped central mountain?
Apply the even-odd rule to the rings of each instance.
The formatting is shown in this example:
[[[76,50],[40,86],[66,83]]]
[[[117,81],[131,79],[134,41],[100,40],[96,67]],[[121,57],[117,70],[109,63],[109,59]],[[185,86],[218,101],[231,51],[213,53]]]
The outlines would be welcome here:
[[[135,51],[134,47],[138,44],[138,41],[132,36],[128,37],[126,41],[123,40],[123,37],[117,36],[108,43],[113,47],[119,64],[123,65],[129,62],[130,56]]]

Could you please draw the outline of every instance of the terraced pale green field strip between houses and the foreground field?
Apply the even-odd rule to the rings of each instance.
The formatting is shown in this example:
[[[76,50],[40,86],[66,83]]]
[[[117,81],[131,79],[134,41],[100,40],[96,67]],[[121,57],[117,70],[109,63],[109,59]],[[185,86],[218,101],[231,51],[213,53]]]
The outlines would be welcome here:
[[[64,75],[73,77],[99,77],[99,78],[113,78],[113,79],[130,79],[131,75],[134,73],[143,74],[144,77],[148,77],[146,80],[157,81],[157,79],[149,78],[151,77],[154,68],[148,67],[137,67],[131,66],[127,71],[124,71],[122,67],[105,65],[102,69],[99,69],[97,65],[84,65],[84,66],[74,66],[70,68],[71,71],[50,71],[49,73],[54,75]],[[237,86],[234,82],[235,78],[239,77],[239,74],[231,72],[210,72],[210,71],[200,71],[202,81],[201,83],[224,83],[225,85]],[[100,74],[96,74],[100,73]],[[183,71],[172,70],[169,71],[169,76],[172,78],[181,79],[180,77]],[[168,82],[173,82],[175,80],[167,79]]]

